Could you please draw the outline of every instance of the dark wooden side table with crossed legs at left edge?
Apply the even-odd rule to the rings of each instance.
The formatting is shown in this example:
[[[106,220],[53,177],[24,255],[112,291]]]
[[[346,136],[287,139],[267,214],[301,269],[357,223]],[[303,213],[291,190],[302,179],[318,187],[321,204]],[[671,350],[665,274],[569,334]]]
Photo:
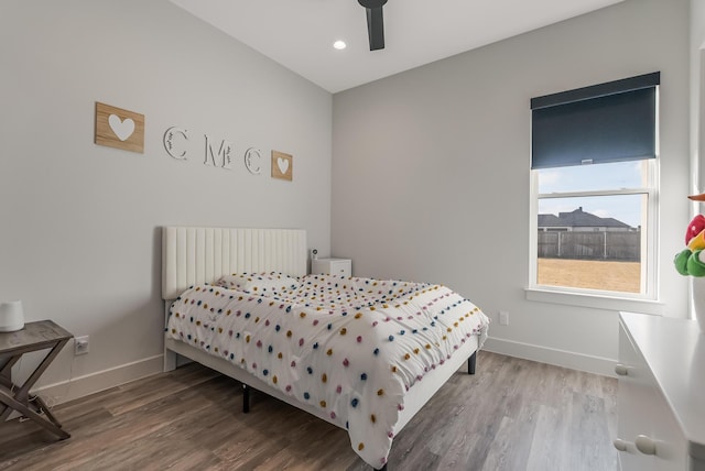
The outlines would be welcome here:
[[[30,397],[30,388],[73,337],[51,320],[28,322],[24,329],[17,332],[0,332],[0,424],[8,419],[12,410],[17,410],[61,439],[70,437],[61,428],[62,425],[40,396]],[[12,383],[12,365],[24,353],[47,349],[48,353],[24,384]],[[42,417],[42,413],[45,417]]]

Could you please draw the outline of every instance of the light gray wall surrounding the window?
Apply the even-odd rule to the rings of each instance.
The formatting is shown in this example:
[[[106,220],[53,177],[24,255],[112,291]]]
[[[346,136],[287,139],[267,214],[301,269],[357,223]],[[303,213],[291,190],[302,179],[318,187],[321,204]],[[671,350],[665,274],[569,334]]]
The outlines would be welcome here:
[[[688,7],[627,0],[336,94],[333,253],[352,258],[356,275],[443,283],[471,298],[495,320],[489,349],[609,373],[618,309],[687,315],[672,259],[688,218]],[[660,303],[529,300],[529,100],[654,70]]]

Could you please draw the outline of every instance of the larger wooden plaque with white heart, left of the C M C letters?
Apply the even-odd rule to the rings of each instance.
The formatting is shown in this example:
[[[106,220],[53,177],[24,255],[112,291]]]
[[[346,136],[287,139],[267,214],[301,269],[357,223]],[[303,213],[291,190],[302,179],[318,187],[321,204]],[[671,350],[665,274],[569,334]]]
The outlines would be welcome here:
[[[144,114],[96,101],[95,143],[144,153]]]

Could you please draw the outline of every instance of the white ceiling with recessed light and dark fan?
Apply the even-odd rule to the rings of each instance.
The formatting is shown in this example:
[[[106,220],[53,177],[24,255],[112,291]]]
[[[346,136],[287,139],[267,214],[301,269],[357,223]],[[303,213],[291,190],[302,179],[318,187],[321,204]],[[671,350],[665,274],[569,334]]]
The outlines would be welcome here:
[[[357,0],[171,1],[337,92],[622,0],[389,0],[375,52]]]

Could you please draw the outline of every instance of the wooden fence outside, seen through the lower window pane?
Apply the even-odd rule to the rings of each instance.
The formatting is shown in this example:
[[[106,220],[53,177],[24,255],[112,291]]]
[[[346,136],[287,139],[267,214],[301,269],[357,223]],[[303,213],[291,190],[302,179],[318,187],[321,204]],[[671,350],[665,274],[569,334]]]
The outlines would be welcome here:
[[[641,232],[539,231],[539,258],[639,262]]]

